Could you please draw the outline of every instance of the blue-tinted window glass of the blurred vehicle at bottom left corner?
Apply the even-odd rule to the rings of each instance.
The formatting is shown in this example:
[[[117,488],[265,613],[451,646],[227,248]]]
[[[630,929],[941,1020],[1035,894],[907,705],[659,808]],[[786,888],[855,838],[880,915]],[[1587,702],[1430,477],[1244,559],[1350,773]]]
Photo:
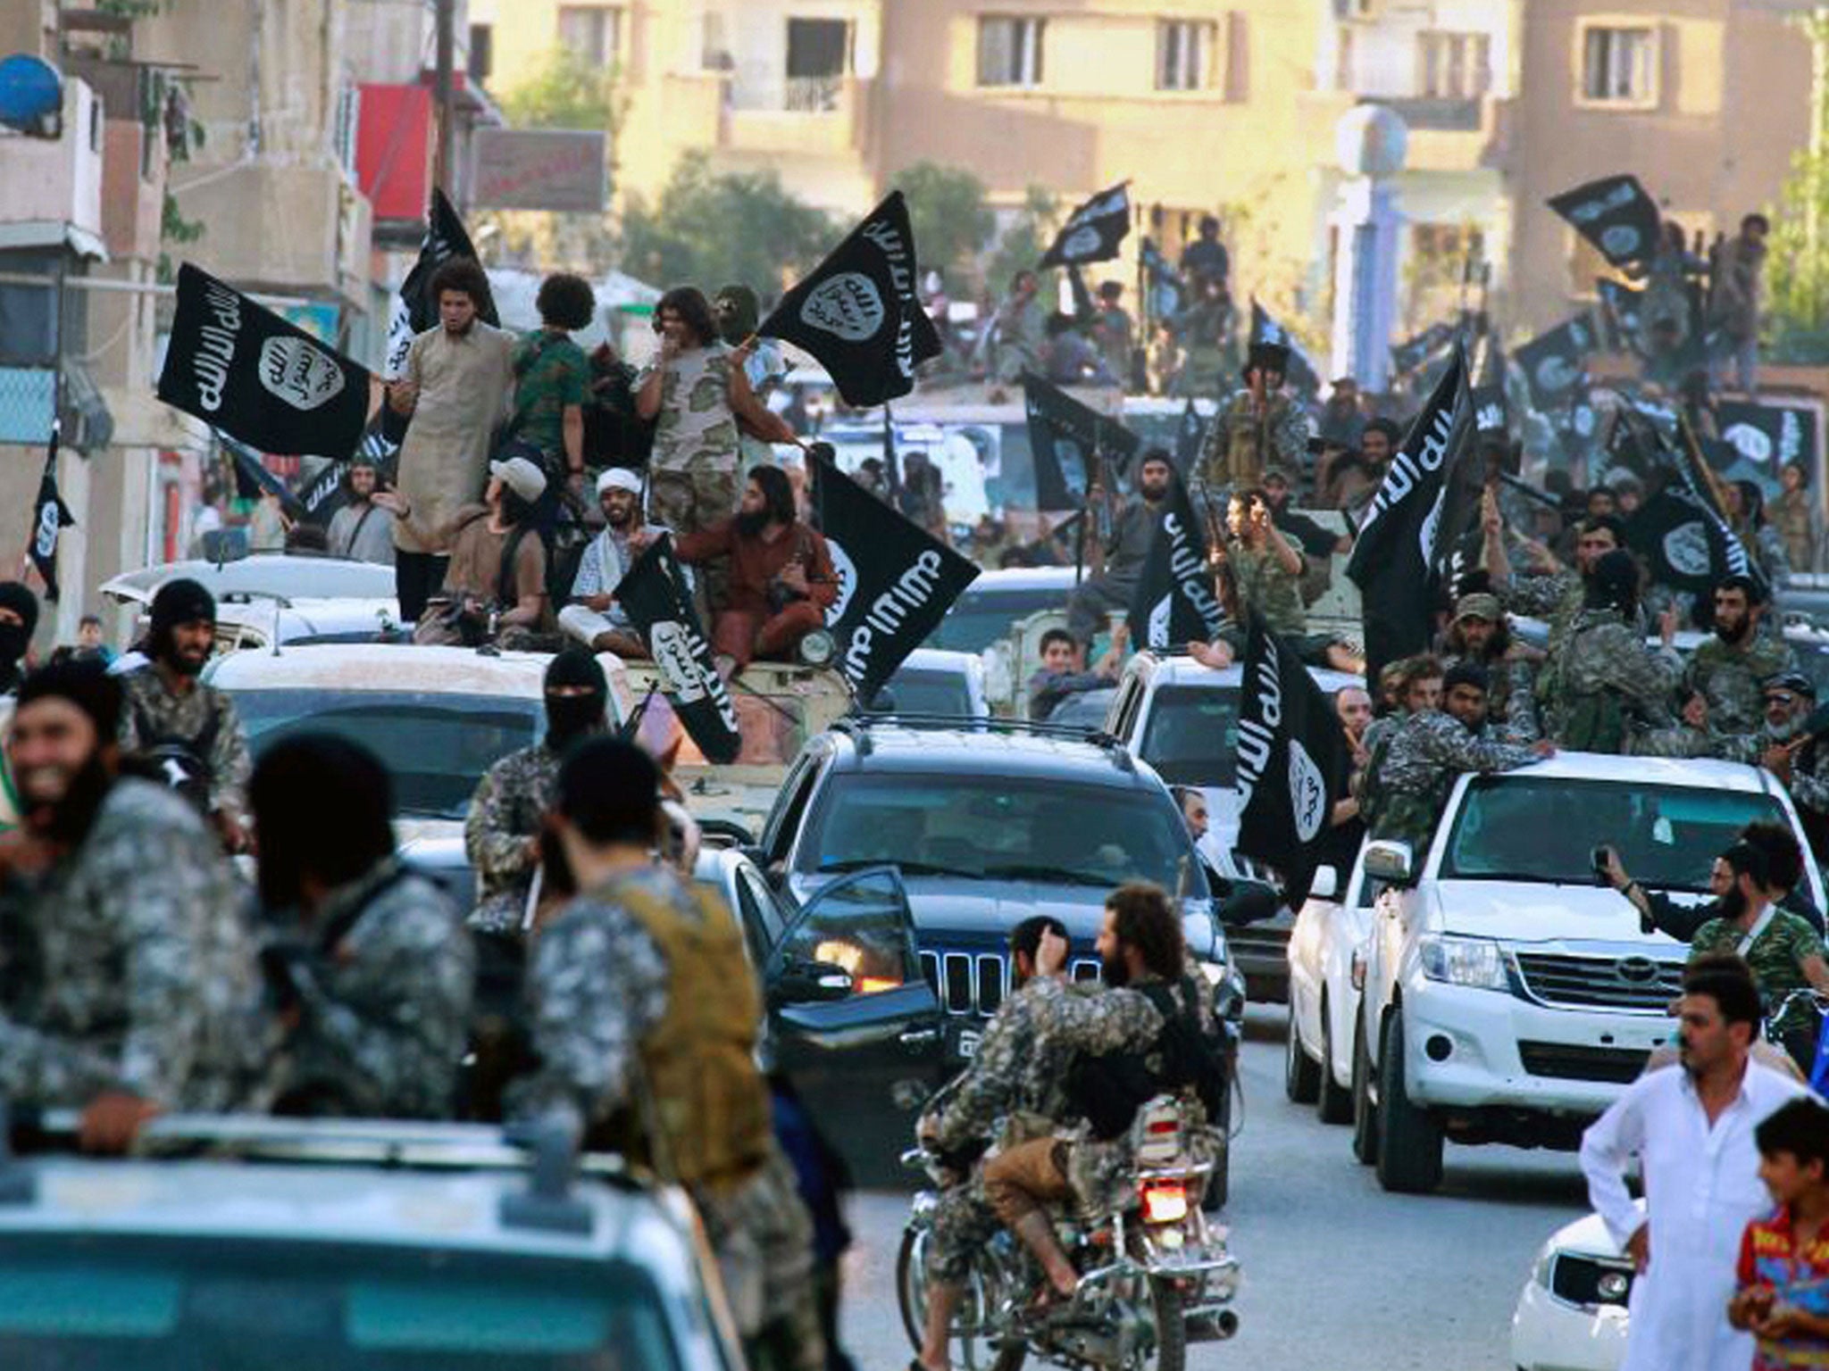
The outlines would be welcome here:
[[[7,1371],[673,1371],[653,1278],[503,1252],[0,1243]]]

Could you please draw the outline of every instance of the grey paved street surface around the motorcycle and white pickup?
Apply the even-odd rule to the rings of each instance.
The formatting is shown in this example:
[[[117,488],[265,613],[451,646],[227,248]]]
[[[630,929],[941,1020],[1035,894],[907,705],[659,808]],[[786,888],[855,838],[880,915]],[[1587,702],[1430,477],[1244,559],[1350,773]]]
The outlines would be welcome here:
[[[1282,1097],[1282,1007],[1253,1007],[1246,1031],[1246,1124],[1227,1210],[1244,1265],[1242,1327],[1191,1364],[1505,1371],[1531,1258],[1586,1206],[1575,1157],[1450,1144],[1439,1194],[1386,1196],[1353,1161],[1350,1130]],[[894,1300],[904,1212],[898,1196],[852,1203],[845,1334],[860,1371],[909,1360]]]

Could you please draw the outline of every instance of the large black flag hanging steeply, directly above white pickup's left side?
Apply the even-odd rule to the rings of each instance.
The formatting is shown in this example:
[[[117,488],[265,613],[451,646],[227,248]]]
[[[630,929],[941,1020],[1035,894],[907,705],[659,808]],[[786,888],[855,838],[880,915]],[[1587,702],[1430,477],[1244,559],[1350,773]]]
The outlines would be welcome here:
[[[1386,662],[1428,649],[1439,574],[1456,537],[1460,501],[1450,494],[1461,486],[1450,477],[1472,433],[1467,353],[1456,347],[1392,455],[1346,563],[1363,600],[1366,680],[1377,680]]]

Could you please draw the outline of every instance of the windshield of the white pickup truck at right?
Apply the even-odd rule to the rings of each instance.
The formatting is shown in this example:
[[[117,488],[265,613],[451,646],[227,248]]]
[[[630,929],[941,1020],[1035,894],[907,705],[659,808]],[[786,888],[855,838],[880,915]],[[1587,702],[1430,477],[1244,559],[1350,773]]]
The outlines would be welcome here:
[[[1708,868],[1741,828],[1776,819],[1770,795],[1635,781],[1494,775],[1467,788],[1443,877],[1593,885],[1593,850],[1619,850],[1626,870],[1659,890],[1708,890]]]

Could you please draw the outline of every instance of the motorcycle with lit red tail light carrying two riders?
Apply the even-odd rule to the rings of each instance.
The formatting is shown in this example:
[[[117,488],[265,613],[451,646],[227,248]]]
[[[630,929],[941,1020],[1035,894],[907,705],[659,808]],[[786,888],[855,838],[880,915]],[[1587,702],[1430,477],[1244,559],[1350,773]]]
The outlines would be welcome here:
[[[1238,1261],[1225,1228],[1202,1208],[1213,1161],[1196,1155],[1172,1097],[1158,1095],[1138,1110],[1132,1130],[1136,1174],[1125,1203],[1090,1217],[1054,1214],[1061,1247],[1083,1272],[1074,1298],[1033,1309],[1041,1267],[1011,1232],[999,1230],[975,1256],[953,1318],[955,1366],[1017,1371],[1035,1356],[1077,1371],[1183,1371],[1187,1344],[1238,1331],[1231,1307]],[[902,1322],[918,1349],[944,1168],[922,1148],[902,1153],[902,1163],[925,1170],[935,1185],[914,1196],[896,1258]]]

